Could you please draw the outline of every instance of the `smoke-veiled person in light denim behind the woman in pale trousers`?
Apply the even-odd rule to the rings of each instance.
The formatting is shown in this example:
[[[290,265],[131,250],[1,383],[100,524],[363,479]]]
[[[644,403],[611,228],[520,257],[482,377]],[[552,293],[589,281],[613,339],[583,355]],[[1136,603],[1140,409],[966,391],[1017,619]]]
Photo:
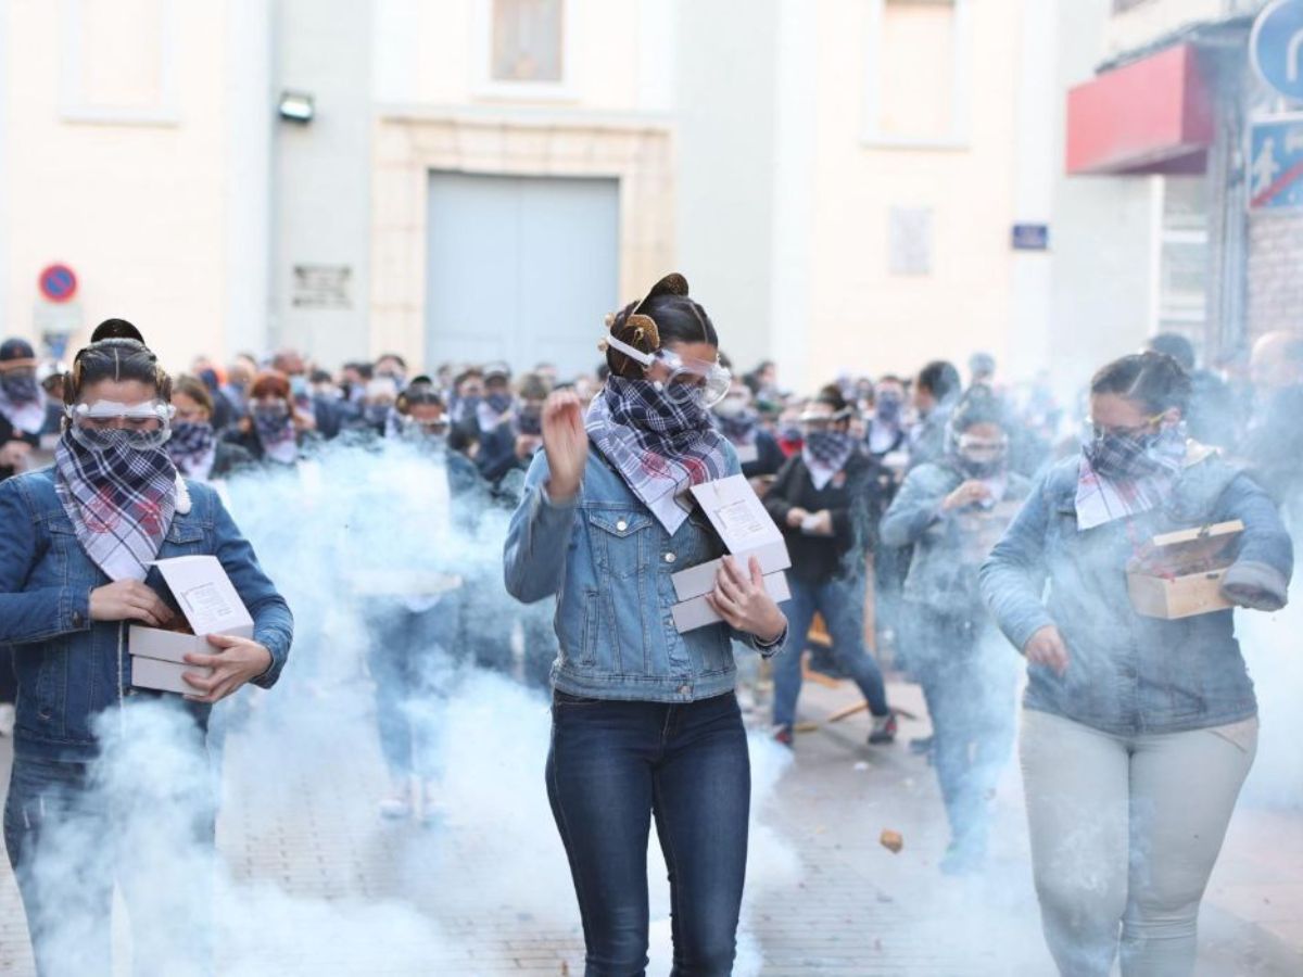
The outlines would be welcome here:
[[[912,547],[899,619],[932,719],[933,766],[950,822],[946,873],[986,856],[990,799],[1014,744],[1014,663],[977,571],[1031,483],[1009,468],[1003,405],[975,387],[950,418],[946,453],[915,468],[882,517],[883,546]]]

